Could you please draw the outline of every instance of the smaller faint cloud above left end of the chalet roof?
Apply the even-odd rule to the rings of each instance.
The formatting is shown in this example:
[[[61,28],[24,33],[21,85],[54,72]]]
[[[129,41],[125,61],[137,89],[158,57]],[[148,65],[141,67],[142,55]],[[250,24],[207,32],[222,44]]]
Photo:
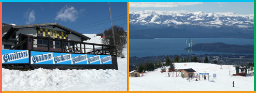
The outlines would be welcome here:
[[[24,17],[26,18],[26,22],[25,24],[31,24],[34,23],[36,21],[36,17],[35,17],[35,11],[34,10],[27,10],[27,12],[25,12]]]

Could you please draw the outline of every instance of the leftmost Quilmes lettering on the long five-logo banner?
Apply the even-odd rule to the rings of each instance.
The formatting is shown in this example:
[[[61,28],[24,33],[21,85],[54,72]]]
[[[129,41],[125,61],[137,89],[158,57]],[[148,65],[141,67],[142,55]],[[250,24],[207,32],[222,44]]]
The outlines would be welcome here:
[[[33,61],[33,64],[36,64],[36,63],[40,63],[42,61],[47,61],[47,60],[51,60],[52,58],[52,53],[48,53],[48,54],[40,54],[40,55],[34,55],[32,57],[32,61]]]

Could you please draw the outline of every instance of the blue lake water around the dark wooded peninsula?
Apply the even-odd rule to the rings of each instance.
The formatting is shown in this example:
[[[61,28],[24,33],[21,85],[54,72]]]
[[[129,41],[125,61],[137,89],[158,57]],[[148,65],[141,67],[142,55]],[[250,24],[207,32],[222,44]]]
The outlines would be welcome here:
[[[196,43],[223,42],[227,44],[252,44],[253,39],[241,38],[191,38],[193,45]],[[130,39],[130,57],[157,56],[157,55],[181,55],[188,54],[186,40],[189,38],[155,38],[155,39]],[[236,54],[193,51],[193,54]]]

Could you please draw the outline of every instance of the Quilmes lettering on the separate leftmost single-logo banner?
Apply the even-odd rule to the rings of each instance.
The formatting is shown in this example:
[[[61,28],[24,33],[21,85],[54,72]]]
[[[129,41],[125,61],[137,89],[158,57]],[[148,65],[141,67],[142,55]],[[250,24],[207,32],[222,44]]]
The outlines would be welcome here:
[[[28,51],[21,51],[21,52],[13,52],[13,53],[5,53],[3,56],[4,63],[8,63],[8,61],[19,60],[23,58],[28,58]]]

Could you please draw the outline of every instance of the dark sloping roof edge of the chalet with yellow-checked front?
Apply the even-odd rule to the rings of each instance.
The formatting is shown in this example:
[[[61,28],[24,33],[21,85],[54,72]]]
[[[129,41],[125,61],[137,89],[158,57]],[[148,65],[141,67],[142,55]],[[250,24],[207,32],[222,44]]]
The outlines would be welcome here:
[[[55,27],[59,27],[63,30],[65,30],[66,32],[69,32],[69,33],[72,33],[76,36],[79,36],[81,37],[81,40],[88,40],[88,39],[91,39],[87,36],[84,36],[78,32],[76,32],[75,30],[72,30],[72,29],[69,29],[61,24],[58,24],[58,23],[43,23],[43,24],[29,24],[29,25],[12,25],[12,29],[19,29],[19,28],[30,28],[30,27],[42,27],[42,26],[55,26]],[[3,37],[3,39],[7,39],[8,37],[10,37],[11,33],[14,33],[15,30],[9,30],[7,32],[7,34]]]

